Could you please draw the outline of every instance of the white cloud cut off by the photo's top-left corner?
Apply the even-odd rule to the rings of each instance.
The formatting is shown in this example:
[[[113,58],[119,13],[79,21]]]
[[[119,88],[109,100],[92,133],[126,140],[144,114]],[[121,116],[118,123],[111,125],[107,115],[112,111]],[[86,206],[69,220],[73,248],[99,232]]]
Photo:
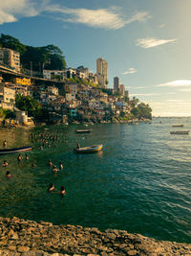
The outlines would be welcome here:
[[[15,22],[19,17],[36,16],[46,3],[46,0],[40,4],[32,0],[4,0],[0,4],[0,25]]]

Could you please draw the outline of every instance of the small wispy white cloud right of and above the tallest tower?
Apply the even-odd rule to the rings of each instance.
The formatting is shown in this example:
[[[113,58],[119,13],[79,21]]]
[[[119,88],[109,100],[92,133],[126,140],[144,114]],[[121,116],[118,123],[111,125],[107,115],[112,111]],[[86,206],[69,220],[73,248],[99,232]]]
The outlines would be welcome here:
[[[147,49],[147,48],[152,48],[152,47],[157,47],[162,44],[166,43],[172,43],[176,42],[178,39],[156,39],[156,38],[143,38],[143,39],[138,39],[136,45],[140,46],[141,48]]]

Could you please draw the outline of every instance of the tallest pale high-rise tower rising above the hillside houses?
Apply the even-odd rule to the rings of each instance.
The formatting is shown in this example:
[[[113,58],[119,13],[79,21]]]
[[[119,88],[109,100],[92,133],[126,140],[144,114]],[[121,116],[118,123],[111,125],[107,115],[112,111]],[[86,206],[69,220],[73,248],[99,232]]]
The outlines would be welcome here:
[[[104,58],[96,59],[96,77],[103,88],[108,88],[108,63]]]

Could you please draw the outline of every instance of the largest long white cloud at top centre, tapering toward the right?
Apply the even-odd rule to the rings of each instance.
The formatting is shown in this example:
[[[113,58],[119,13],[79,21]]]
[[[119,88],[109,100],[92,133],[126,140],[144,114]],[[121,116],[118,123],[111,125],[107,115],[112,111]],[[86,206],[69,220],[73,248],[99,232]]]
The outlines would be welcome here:
[[[131,18],[126,19],[117,7],[110,9],[70,9],[58,5],[48,6],[48,12],[61,14],[62,21],[68,23],[83,24],[93,28],[117,30],[135,21],[143,22],[150,18],[148,12],[138,12]]]

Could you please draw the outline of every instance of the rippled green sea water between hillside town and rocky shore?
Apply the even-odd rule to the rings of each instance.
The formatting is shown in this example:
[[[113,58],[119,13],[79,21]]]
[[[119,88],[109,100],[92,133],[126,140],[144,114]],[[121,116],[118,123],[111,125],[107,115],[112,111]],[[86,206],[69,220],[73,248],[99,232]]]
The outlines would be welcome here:
[[[175,124],[184,127],[172,128]],[[91,127],[92,134],[76,134],[76,128],[85,127],[34,128],[35,133],[54,132],[59,141],[42,151],[34,142],[29,161],[18,163],[18,154],[0,156],[0,164],[9,162],[7,168],[0,166],[0,216],[191,243],[191,136],[170,135],[170,130],[191,131],[191,118],[154,118],[138,126],[100,124]],[[8,148],[30,145],[31,131],[16,128],[12,138],[11,129],[0,129],[0,140],[7,139]],[[103,144],[103,150],[75,154],[76,142]],[[58,174],[48,167],[50,158],[57,167],[63,163]],[[57,191],[66,187],[64,198],[47,192],[52,182]]]

